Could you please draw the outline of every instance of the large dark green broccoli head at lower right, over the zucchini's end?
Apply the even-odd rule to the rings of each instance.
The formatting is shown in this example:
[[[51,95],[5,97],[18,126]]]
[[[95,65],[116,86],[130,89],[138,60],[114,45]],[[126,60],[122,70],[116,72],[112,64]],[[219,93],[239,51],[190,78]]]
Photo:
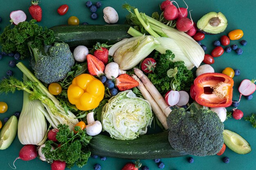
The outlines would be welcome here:
[[[224,124],[218,115],[200,108],[196,113],[184,108],[174,109],[167,117],[169,142],[171,146],[189,155],[215,155],[224,143]]]

